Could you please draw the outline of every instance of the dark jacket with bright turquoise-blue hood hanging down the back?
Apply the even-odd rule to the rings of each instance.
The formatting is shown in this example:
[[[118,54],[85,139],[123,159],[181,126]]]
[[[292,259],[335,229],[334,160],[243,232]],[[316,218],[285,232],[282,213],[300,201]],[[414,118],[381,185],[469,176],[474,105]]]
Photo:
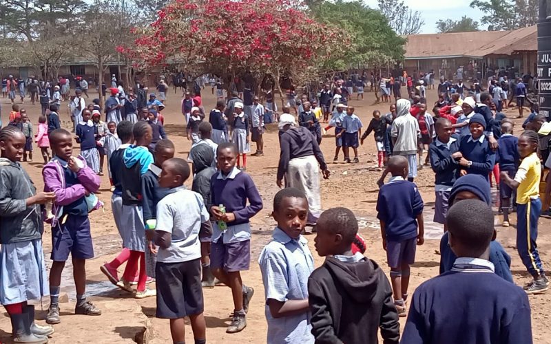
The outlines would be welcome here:
[[[123,162],[125,166],[121,172],[121,185],[123,188],[123,204],[125,206],[142,205],[142,175],[153,164],[153,155],[147,147],[132,144],[124,151]]]

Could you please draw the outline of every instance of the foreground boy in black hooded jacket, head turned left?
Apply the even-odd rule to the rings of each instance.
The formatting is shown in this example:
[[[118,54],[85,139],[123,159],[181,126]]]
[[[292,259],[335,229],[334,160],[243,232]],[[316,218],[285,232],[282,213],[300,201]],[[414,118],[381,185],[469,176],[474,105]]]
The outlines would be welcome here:
[[[360,252],[352,253],[357,234],[355,215],[331,208],[318,219],[315,250],[324,264],[308,280],[315,343],[377,343],[399,341],[398,314],[392,289],[381,268]]]

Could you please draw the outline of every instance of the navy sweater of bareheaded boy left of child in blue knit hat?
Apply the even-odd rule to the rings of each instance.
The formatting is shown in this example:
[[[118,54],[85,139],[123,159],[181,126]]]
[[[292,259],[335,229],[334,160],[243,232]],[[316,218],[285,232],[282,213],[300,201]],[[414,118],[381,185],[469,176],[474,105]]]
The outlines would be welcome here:
[[[451,155],[459,151],[459,136],[453,135],[450,141],[453,142],[443,144],[436,139],[428,146],[430,166],[436,173],[435,185],[451,187],[455,183],[455,180],[457,180],[459,164],[452,159]]]

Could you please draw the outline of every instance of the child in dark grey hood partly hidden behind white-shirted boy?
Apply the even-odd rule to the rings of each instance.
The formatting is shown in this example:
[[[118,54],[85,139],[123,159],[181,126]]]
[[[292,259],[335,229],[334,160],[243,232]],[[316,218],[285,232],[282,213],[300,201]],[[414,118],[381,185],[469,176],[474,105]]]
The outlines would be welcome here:
[[[193,151],[193,153],[191,153]],[[205,207],[210,209],[212,206],[211,197],[211,178],[216,173],[216,169],[212,167],[214,160],[214,152],[208,144],[197,144],[189,152],[189,156],[193,158],[194,166],[194,182],[191,185],[191,191],[195,191],[202,195],[205,202]],[[211,272],[211,233],[199,232],[199,240],[201,241],[201,265],[203,287],[214,288],[215,278]]]

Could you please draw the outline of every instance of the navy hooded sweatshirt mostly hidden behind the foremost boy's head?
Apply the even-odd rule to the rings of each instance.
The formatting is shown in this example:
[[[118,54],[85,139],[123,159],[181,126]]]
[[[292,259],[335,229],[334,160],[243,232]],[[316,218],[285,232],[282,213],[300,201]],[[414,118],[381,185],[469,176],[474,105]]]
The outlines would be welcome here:
[[[469,191],[474,193],[482,202],[486,202],[488,205],[492,204],[490,184],[486,178],[481,175],[468,174],[458,178],[450,191],[450,198],[448,200],[450,206],[452,206],[455,196],[457,196],[457,194],[461,191]],[[448,232],[446,232],[440,239],[440,275],[444,272],[450,271],[453,268],[455,259],[457,259],[455,253],[451,250],[450,246],[448,246],[448,242]],[[503,246],[495,240],[490,242],[489,260],[492,264],[494,264],[496,275],[513,283],[510,270],[511,257],[509,257],[507,252],[505,252]]]

